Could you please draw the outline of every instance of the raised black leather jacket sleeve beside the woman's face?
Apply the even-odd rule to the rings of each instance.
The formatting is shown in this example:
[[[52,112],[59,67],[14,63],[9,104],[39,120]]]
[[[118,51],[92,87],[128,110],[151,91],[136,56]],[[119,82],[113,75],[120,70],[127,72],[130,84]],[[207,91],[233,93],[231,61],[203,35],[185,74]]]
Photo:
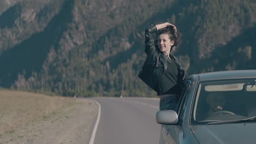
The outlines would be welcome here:
[[[150,55],[156,52],[154,38],[153,38],[153,33],[156,31],[157,31],[157,28],[155,25],[151,25],[145,29],[145,50],[144,51],[147,53],[147,55]]]

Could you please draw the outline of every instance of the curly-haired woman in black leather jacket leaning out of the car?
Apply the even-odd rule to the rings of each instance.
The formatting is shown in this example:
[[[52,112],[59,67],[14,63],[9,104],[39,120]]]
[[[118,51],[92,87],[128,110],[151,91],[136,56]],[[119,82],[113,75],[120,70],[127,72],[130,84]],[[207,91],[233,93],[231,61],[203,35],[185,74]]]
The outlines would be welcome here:
[[[157,36],[157,45],[153,34]],[[147,59],[138,77],[153,88],[160,97],[160,110],[177,110],[179,94],[185,77],[184,69],[171,54],[179,43],[177,28],[165,22],[145,30]]]

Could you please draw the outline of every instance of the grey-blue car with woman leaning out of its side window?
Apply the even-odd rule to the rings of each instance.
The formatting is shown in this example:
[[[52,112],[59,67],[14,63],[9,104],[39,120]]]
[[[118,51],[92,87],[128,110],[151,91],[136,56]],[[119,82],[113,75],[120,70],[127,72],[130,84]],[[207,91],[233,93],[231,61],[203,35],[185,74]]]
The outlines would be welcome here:
[[[255,143],[256,70],[193,74],[178,109],[156,113],[160,144]]]

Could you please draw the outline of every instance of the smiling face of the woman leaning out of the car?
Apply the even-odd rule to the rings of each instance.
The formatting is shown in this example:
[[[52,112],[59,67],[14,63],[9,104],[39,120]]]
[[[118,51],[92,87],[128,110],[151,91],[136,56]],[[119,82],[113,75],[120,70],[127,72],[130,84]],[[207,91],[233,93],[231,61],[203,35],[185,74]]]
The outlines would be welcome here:
[[[169,55],[173,44],[174,41],[170,39],[168,34],[160,34],[158,36],[158,47],[161,52],[165,53],[165,55]]]

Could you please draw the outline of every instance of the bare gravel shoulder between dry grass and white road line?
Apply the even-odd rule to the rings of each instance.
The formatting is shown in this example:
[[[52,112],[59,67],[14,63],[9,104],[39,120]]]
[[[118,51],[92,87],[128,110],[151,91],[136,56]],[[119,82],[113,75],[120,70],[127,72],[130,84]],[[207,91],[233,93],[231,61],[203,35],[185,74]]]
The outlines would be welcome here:
[[[95,101],[77,98],[42,121],[5,133],[0,143],[89,143],[97,112]]]

